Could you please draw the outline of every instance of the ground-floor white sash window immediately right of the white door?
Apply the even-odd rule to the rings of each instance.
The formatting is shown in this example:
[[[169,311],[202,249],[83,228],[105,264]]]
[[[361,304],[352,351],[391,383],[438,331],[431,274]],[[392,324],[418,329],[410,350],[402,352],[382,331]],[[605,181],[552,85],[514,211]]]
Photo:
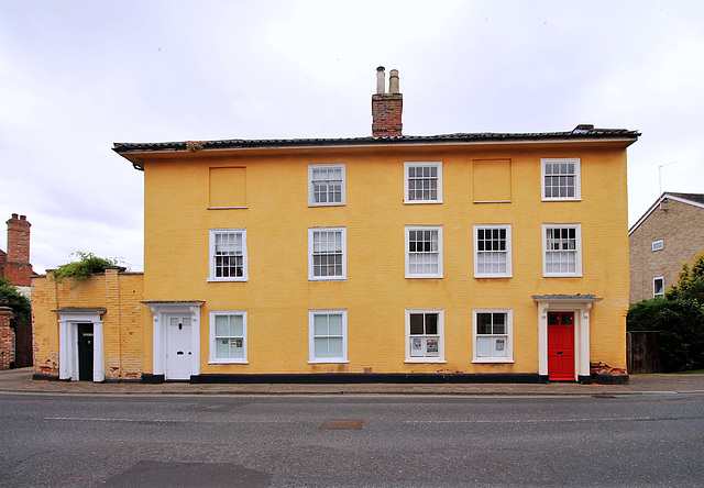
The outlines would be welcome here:
[[[246,363],[246,311],[210,312],[209,363]]]

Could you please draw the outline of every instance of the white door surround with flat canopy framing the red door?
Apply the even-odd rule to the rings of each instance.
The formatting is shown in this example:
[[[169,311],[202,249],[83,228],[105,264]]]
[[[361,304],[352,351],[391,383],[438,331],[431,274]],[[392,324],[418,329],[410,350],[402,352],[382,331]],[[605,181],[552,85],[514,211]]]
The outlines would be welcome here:
[[[587,380],[590,370],[590,311],[602,301],[594,295],[534,296],[538,303],[538,374],[548,378],[548,312],[574,312],[574,376]]]

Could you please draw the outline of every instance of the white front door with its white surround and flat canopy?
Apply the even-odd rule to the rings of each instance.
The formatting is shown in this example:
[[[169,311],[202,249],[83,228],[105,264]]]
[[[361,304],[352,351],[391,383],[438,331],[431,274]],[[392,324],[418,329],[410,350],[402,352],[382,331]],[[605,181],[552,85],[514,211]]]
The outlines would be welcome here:
[[[190,379],[200,374],[200,307],[205,301],[143,301],[152,310],[153,320],[153,359],[152,374],[164,375],[164,379]],[[190,319],[190,325],[184,326],[183,319]],[[169,334],[172,319],[180,319],[182,329]],[[186,337],[178,337],[178,333],[187,333],[190,329],[190,342]],[[179,351],[183,355],[179,362],[169,359],[169,339],[174,346],[172,354]],[[174,341],[177,341],[176,343]],[[184,347],[177,347],[184,346]],[[187,346],[190,346],[187,348]],[[188,354],[190,352],[190,354]],[[183,357],[182,357],[183,356]],[[180,363],[179,366],[176,366]],[[170,377],[173,376],[173,377]]]

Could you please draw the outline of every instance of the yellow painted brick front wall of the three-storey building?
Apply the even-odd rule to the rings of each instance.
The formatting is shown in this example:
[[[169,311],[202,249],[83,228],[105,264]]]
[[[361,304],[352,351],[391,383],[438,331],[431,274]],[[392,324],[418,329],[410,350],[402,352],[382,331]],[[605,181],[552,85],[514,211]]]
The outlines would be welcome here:
[[[536,373],[538,311],[531,296],[588,293],[604,298],[591,311],[591,361],[625,367],[628,236],[623,146],[565,143],[147,155],[144,299],[205,301],[201,374]],[[581,158],[581,201],[541,201],[543,157]],[[504,188],[510,188],[512,201],[473,203],[473,162],[492,159],[510,168],[510,186]],[[404,204],[404,162],[409,160],[442,162],[443,203]],[[339,163],[345,164],[346,204],[309,207],[308,165]],[[208,210],[215,167],[246,168],[246,209]],[[513,225],[513,278],[474,278],[473,224],[491,223]],[[542,223],[582,224],[583,277],[542,277]],[[442,279],[405,278],[405,225],[443,226]],[[346,228],[344,281],[308,280],[308,229],[324,226]],[[208,282],[209,229],[246,229],[249,281]],[[446,364],[404,362],[407,308],[444,310]],[[515,363],[472,363],[474,308],[513,309]],[[348,310],[348,364],[307,363],[311,309]],[[218,310],[248,311],[249,364],[208,364],[209,312]],[[150,371],[148,310],[143,324],[144,367]]]

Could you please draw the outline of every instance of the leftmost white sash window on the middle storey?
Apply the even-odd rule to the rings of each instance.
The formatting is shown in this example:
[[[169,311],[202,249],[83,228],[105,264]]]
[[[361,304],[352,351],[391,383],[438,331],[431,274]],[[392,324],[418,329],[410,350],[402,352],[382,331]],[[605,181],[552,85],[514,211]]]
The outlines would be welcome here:
[[[246,281],[246,230],[210,230],[209,281]]]

